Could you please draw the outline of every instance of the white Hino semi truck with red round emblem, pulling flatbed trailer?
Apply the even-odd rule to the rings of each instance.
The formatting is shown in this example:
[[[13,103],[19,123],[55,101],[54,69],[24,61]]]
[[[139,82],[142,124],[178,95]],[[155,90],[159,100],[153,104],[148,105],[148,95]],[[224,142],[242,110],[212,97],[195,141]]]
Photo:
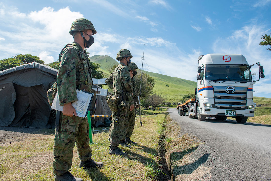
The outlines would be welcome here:
[[[264,78],[259,62],[259,79]],[[178,105],[179,115],[204,121],[206,117],[226,120],[233,117],[244,124],[254,116],[253,84],[250,68],[241,54],[207,54],[198,58],[195,99]]]

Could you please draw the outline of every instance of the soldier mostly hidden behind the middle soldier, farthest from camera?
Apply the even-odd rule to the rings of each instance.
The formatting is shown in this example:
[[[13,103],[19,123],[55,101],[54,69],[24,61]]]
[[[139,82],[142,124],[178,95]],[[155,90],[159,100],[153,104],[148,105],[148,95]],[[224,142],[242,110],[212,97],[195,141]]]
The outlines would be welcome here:
[[[135,102],[135,97],[137,96],[137,93],[136,93],[137,91],[136,91],[136,87],[135,87],[134,76],[137,74],[137,71],[136,71],[136,69],[138,69],[137,64],[135,64],[134,62],[131,62],[131,64],[128,65],[128,69],[130,72],[131,81],[132,81],[132,85],[133,85],[132,101]],[[132,140],[130,140],[130,137],[134,131],[134,125],[135,125],[135,109],[133,109],[132,111],[130,111],[130,110],[127,111],[127,120],[128,120],[128,126],[127,126],[127,128],[124,128],[124,131],[126,131],[126,134],[123,135],[120,143],[137,144],[137,143],[133,142]]]

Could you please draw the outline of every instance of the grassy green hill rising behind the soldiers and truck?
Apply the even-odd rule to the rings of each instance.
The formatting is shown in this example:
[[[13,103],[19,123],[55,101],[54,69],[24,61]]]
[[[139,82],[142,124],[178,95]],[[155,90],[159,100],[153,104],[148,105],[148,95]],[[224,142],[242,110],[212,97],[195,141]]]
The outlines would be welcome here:
[[[111,65],[118,64],[116,60],[109,56],[99,56],[95,55],[89,58],[92,62],[100,63],[101,67],[99,70],[102,70],[105,73],[108,73],[107,68]],[[141,70],[138,70],[138,73]],[[154,78],[154,92],[162,92],[162,95],[166,99],[166,102],[179,102],[183,95],[188,93],[194,93],[196,88],[196,82],[191,80],[180,79],[177,77],[170,77],[162,75],[159,73],[153,73],[148,71],[143,71]]]

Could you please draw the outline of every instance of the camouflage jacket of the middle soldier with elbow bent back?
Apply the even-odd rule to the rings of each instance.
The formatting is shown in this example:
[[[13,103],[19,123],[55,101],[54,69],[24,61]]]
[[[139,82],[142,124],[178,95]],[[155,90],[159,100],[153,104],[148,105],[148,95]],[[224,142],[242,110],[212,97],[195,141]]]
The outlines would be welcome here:
[[[124,63],[120,63],[117,68],[107,77],[105,83],[114,90],[115,94],[125,93],[127,106],[134,104],[133,83],[131,82],[130,72]]]

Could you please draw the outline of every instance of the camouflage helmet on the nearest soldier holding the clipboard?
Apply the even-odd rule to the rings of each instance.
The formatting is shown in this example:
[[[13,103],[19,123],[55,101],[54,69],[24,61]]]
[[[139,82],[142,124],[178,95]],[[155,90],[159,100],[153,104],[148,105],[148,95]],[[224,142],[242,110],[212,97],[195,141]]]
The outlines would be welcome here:
[[[73,21],[70,27],[70,35],[73,35],[77,31],[85,30],[92,30],[92,35],[97,33],[93,24],[88,19],[78,18],[77,20]]]

